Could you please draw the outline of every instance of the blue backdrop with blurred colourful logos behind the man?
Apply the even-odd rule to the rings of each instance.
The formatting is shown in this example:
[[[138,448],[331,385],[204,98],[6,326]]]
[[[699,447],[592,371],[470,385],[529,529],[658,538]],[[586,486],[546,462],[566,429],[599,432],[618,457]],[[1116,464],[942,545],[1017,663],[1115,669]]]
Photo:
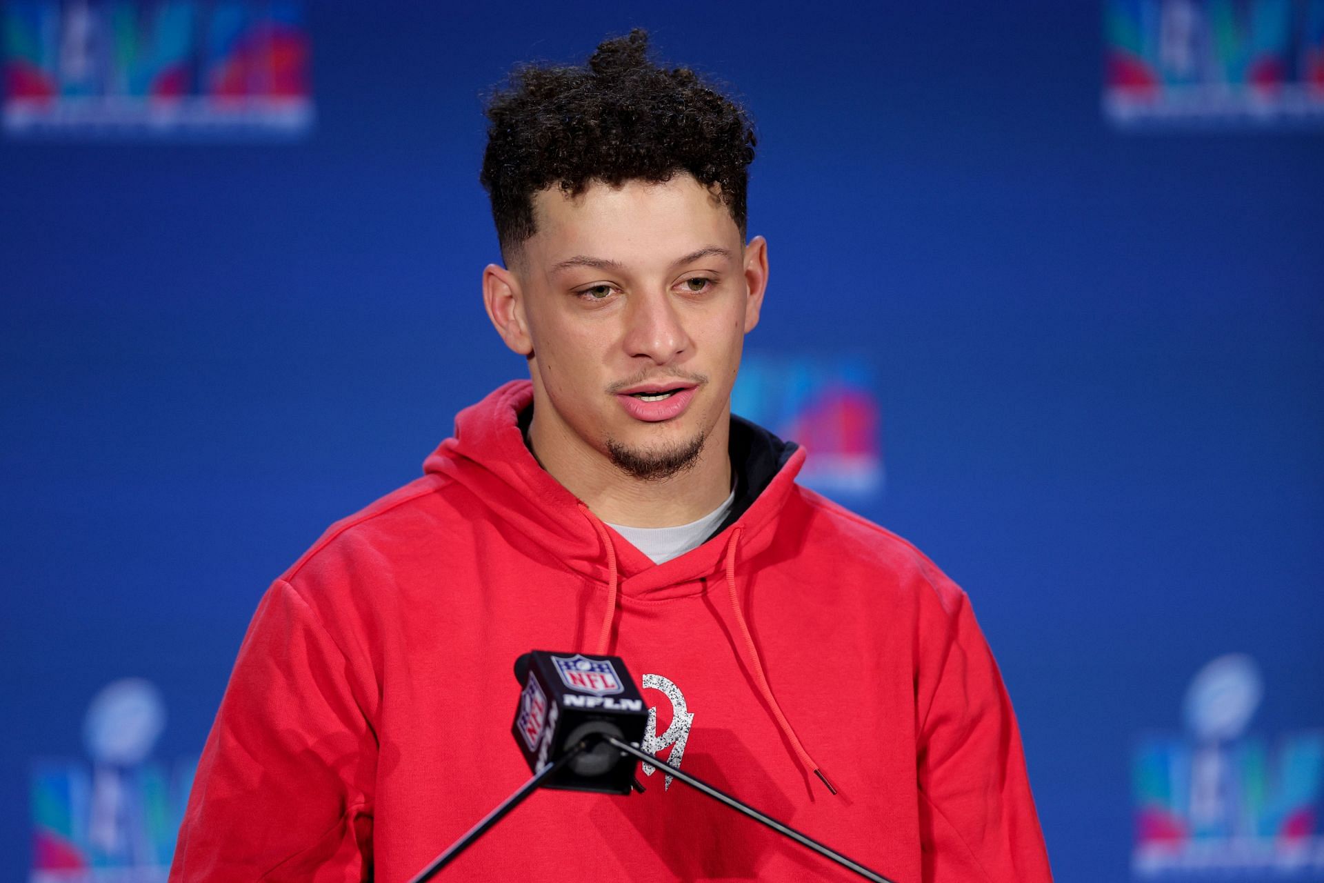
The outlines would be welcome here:
[[[1058,878],[1324,880],[1324,0],[0,4],[0,878],[164,878],[267,582],[524,369],[485,90],[636,25],[759,123],[736,410],[969,590]]]

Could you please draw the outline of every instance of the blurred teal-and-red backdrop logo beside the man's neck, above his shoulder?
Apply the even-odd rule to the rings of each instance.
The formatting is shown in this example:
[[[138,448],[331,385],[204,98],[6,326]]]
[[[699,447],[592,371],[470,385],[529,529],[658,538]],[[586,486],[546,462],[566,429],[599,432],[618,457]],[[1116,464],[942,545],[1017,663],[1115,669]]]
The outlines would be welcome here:
[[[804,445],[808,487],[854,502],[882,492],[882,409],[863,359],[748,353],[731,412]]]

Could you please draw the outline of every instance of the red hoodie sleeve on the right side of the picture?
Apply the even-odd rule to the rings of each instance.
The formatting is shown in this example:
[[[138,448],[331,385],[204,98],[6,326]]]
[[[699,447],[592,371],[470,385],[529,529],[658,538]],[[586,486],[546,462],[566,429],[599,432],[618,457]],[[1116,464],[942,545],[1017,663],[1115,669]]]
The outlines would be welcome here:
[[[1051,882],[1012,700],[965,593],[937,588],[945,639],[916,683],[923,879]]]

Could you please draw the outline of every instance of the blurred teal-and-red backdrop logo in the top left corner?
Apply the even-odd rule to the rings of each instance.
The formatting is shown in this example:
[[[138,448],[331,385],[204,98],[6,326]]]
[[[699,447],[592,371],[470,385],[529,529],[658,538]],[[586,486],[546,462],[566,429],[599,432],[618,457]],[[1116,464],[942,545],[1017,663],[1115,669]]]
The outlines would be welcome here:
[[[312,124],[301,3],[17,0],[0,32],[12,136],[287,138]]]

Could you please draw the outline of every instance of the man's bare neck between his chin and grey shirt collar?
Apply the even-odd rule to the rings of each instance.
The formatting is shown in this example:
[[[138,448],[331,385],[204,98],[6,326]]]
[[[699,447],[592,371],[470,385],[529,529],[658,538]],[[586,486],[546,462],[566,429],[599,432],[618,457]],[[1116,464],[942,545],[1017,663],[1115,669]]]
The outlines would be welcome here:
[[[535,409],[528,442],[539,465],[610,524],[688,524],[722,506],[731,494],[730,418],[712,428],[692,466],[670,478],[643,481],[585,445],[568,426],[548,425],[538,417]]]

